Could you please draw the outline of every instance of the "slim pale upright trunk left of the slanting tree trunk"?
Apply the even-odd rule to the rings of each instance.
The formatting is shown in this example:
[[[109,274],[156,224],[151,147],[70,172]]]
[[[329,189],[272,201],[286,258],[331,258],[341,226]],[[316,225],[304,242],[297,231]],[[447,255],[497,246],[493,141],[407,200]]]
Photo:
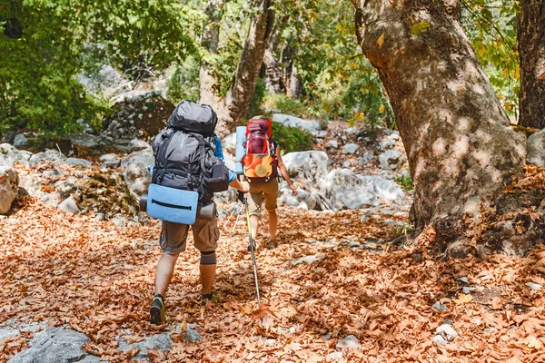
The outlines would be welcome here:
[[[218,44],[220,39],[220,25],[217,18],[223,0],[208,0],[204,13],[207,17],[206,25],[203,30],[203,48],[209,54],[218,53]],[[214,110],[218,109],[219,98],[217,96],[216,81],[210,73],[210,64],[206,61],[206,55],[201,59],[201,68],[199,70],[199,103],[210,104]]]

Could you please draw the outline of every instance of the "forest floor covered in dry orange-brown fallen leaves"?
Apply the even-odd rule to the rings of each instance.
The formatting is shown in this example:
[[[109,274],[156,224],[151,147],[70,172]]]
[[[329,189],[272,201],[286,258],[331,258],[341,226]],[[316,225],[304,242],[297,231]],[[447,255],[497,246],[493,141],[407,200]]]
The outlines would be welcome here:
[[[388,244],[395,227],[380,215],[279,213],[280,245],[265,250],[258,239],[261,309],[241,216],[233,237],[233,221],[223,231],[215,301],[200,305],[190,237],[167,293],[168,322],[156,329],[147,320],[157,223],[119,227],[19,199],[0,219],[0,328],[41,322],[74,329],[91,338],[87,352],[112,362],[138,353],[121,350],[120,339],[165,333],[171,348],[149,349],[152,361],[545,361],[542,247],[525,258],[444,260],[426,252],[425,238]],[[188,323],[200,342],[183,342]],[[438,345],[432,338],[444,323],[457,336]],[[28,347],[35,332],[22,330],[0,340],[0,361]],[[352,340],[353,348],[342,348],[350,335],[361,347]]]

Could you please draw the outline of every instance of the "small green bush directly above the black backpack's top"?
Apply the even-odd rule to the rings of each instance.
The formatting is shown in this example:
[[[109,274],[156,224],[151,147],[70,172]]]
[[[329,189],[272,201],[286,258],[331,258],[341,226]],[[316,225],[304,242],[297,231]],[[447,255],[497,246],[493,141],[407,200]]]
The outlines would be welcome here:
[[[183,64],[173,64],[172,75],[166,84],[166,97],[176,104],[182,100],[199,98],[199,62],[189,56]]]

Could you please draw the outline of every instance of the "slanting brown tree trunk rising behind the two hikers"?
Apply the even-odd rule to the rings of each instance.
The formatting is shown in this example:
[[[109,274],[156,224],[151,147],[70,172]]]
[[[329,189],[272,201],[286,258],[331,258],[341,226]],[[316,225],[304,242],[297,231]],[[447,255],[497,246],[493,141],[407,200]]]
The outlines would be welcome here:
[[[263,64],[263,55],[271,35],[274,22],[272,0],[253,0],[251,3],[252,7],[259,10],[250,21],[250,29],[233,84],[218,108],[219,123],[216,133],[220,137],[233,132],[236,124],[243,120],[246,109],[252,101],[255,83]]]

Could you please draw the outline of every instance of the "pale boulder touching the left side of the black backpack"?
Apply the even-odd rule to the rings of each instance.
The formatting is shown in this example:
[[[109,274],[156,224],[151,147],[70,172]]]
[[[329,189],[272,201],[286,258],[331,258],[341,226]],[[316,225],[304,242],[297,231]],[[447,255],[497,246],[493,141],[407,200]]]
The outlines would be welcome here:
[[[150,182],[152,182],[148,166],[154,162],[154,153],[144,151],[130,154],[121,163],[124,168],[124,181],[129,185],[131,191],[134,191],[137,195],[144,194]]]

